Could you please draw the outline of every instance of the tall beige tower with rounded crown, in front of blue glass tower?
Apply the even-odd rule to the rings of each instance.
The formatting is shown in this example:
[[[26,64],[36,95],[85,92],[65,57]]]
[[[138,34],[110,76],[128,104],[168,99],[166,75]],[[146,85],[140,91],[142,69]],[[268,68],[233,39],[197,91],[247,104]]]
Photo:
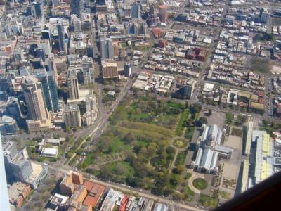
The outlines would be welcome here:
[[[48,113],[41,90],[41,83],[30,75],[25,79],[22,88],[30,120],[47,120]]]

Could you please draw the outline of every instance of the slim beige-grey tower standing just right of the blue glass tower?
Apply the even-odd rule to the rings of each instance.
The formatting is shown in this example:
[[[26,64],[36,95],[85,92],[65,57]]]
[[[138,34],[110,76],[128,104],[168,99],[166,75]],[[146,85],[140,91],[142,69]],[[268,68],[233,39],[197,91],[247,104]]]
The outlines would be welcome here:
[[[67,90],[70,100],[79,99],[79,87],[76,70],[68,70],[67,72]]]

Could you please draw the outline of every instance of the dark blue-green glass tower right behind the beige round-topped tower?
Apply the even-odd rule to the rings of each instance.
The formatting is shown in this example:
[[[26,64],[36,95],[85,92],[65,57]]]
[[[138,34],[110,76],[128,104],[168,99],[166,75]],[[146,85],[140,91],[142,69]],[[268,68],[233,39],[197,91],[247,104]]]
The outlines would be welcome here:
[[[36,75],[42,84],[44,100],[48,111],[58,111],[58,91],[52,71]]]

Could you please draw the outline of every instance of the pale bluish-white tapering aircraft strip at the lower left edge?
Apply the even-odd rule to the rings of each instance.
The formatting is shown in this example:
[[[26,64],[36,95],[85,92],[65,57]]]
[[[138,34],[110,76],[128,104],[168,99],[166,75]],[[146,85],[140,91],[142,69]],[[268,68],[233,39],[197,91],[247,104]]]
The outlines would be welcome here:
[[[8,184],[6,179],[7,172],[5,171],[4,151],[2,148],[1,134],[0,134],[0,186],[1,186],[1,200],[0,207],[2,210],[11,210],[8,196]]]

